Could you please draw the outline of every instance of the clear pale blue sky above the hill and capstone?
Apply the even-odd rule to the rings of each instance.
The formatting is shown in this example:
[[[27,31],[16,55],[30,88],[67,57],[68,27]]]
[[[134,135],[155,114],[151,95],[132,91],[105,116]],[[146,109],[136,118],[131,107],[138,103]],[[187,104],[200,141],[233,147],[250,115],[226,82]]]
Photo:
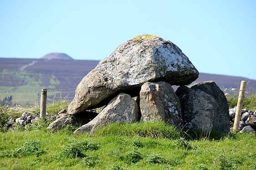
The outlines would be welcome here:
[[[201,73],[256,79],[256,0],[0,0],[0,57],[101,60],[139,34]]]

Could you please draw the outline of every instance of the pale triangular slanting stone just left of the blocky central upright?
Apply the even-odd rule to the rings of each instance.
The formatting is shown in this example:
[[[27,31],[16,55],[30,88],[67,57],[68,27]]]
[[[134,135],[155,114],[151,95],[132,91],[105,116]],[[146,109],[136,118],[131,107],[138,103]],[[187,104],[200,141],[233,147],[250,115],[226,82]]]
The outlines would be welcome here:
[[[74,133],[95,131],[98,126],[113,122],[135,122],[138,119],[138,105],[130,95],[120,93],[89,123],[81,126]]]

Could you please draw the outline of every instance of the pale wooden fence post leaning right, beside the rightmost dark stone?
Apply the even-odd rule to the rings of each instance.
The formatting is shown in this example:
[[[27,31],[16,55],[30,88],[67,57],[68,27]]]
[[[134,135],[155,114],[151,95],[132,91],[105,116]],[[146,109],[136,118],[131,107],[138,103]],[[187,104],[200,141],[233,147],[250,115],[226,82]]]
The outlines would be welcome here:
[[[245,98],[245,89],[246,89],[246,81],[241,81],[240,91],[239,91],[237,105],[236,105],[236,116],[235,116],[233,131],[238,131],[239,129],[239,123],[240,123],[241,113],[243,109],[243,102]]]

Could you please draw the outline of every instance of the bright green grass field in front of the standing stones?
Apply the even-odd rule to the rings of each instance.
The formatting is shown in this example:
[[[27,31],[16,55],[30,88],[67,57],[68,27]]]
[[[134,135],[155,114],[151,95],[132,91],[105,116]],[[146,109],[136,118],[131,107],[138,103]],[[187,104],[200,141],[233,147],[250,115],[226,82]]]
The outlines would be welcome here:
[[[140,125],[139,125],[140,124]],[[231,133],[219,140],[186,139],[181,131],[175,137],[139,136],[142,126],[157,134],[164,122],[107,125],[104,135],[58,131],[17,130],[0,132],[0,166],[3,169],[182,169],[246,170],[256,167],[256,134]],[[175,128],[173,128],[175,129]],[[115,133],[113,133],[115,131]],[[124,133],[122,133],[124,131]],[[170,132],[170,131],[169,131]],[[171,132],[171,133],[173,133]],[[133,134],[133,135],[129,135]],[[246,146],[241,147],[241,146]]]

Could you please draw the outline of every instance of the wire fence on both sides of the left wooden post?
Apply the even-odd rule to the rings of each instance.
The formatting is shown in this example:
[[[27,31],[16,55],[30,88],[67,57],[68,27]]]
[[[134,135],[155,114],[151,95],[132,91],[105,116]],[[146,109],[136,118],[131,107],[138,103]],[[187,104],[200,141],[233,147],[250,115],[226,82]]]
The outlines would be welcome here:
[[[76,88],[47,89],[47,103],[67,101],[70,102],[75,97]],[[2,106],[28,106],[40,103],[41,90],[27,91],[5,91],[0,92],[0,105]]]

